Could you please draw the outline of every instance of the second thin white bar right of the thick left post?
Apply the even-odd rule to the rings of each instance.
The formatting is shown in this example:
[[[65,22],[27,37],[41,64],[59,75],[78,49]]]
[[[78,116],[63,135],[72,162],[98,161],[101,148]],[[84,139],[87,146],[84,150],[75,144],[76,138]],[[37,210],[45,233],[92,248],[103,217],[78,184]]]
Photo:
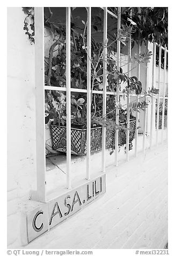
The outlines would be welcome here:
[[[88,7],[87,25],[87,151],[86,151],[86,179],[90,180],[91,157],[91,7]]]

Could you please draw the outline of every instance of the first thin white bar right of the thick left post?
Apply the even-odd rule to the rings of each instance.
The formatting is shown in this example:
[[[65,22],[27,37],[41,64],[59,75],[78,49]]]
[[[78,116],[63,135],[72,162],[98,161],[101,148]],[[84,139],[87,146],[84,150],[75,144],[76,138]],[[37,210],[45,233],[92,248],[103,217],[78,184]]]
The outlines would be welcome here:
[[[67,136],[67,188],[71,188],[71,83],[70,83],[70,7],[66,8],[66,136]]]

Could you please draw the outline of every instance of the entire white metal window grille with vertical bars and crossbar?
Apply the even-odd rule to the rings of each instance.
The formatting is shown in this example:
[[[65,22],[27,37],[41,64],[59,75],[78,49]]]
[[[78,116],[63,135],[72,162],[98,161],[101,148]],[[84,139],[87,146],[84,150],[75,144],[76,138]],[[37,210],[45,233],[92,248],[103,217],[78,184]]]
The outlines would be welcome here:
[[[102,8],[104,11],[104,45],[107,45],[107,17],[108,15],[113,16],[117,19],[117,27],[118,30],[121,27],[121,8],[118,8],[118,15],[115,15],[113,12],[108,10],[106,7]],[[88,10],[88,25],[87,25],[87,52],[88,55],[91,56],[91,7],[87,8]],[[46,195],[46,152],[45,152],[45,90],[55,90],[55,91],[65,91],[66,93],[66,111],[67,111],[67,188],[72,188],[71,184],[71,92],[85,93],[87,95],[87,150],[86,150],[86,179],[91,179],[91,61],[87,57],[87,89],[77,89],[71,88],[71,48],[70,48],[70,24],[71,24],[71,15],[70,15],[70,7],[66,8],[66,87],[54,87],[54,86],[44,86],[44,76],[45,76],[45,67],[44,67],[44,11],[41,7],[35,8],[35,84],[36,84],[36,131],[37,131],[37,190],[32,191],[32,199],[40,202],[47,202]],[[132,17],[132,13],[131,13]],[[158,69],[158,89],[160,88],[161,81],[161,53],[164,51],[164,89],[163,96],[161,97],[159,94],[157,96],[157,124],[159,123],[159,103],[160,98],[163,99],[163,111],[162,111],[162,120],[164,120],[164,111],[165,111],[165,89],[166,89],[166,54],[167,48],[158,46],[153,44],[153,55],[152,55],[152,87],[155,87],[155,68],[156,68],[156,47],[159,48],[159,69]],[[148,48],[148,43],[147,43]],[[121,61],[121,52],[120,52],[120,41],[117,41],[117,56],[116,60],[120,64]],[[106,115],[106,96],[113,95],[112,91],[106,90],[107,85],[107,47],[104,47],[104,61],[103,61],[103,91],[93,90],[93,94],[103,94],[103,115]],[[129,39],[128,44],[128,56],[131,56],[131,38]],[[140,45],[137,46],[137,53],[140,54],[141,48]],[[129,60],[129,58],[128,58]],[[120,66],[120,65],[119,65]],[[130,63],[128,62],[128,75],[130,76]],[[150,64],[147,63],[147,82],[146,89],[148,90],[148,72],[149,72]],[[137,77],[140,79],[141,66],[137,67]],[[119,102],[119,96],[122,93],[119,89],[116,90],[116,103]],[[136,98],[138,102],[138,95],[132,94]],[[144,95],[141,95],[141,97]],[[127,94],[127,103],[130,103],[130,95]],[[150,147],[153,144],[153,132],[152,127],[154,107],[153,101],[151,100],[151,129],[150,129]],[[143,113],[144,119],[144,130],[143,130],[143,153],[145,153],[145,140],[147,137],[147,109]],[[136,130],[135,130],[135,157],[137,157],[138,153],[138,120],[140,118],[140,113],[136,112]],[[119,110],[116,108],[116,124],[119,124]],[[129,106],[127,107],[127,128],[129,128]],[[156,145],[158,145],[158,125],[156,127]],[[119,131],[115,132],[115,162],[114,165],[118,166],[118,147],[119,142]],[[164,143],[164,122],[162,122],[162,144]],[[106,128],[103,127],[103,139],[102,139],[102,157],[101,157],[101,172],[105,172],[105,164],[106,164]],[[126,161],[129,160],[129,130],[127,130],[127,142],[126,142]]]

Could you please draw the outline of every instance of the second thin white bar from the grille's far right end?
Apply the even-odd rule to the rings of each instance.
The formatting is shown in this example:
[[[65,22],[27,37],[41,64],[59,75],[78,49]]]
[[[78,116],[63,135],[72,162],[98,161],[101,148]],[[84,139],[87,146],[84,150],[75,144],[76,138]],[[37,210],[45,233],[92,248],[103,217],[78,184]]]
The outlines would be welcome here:
[[[161,84],[161,56],[162,47],[159,46],[159,57],[158,57],[158,90],[157,95],[157,119],[156,119],[156,146],[158,147],[158,126],[159,126],[159,106],[160,106],[160,84]]]

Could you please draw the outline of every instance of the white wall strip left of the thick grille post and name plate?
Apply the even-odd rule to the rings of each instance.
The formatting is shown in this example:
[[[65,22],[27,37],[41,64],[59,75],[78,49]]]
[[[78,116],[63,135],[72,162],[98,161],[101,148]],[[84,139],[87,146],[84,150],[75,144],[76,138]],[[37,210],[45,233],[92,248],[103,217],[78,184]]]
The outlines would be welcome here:
[[[8,8],[8,245],[12,247],[21,243],[21,201],[35,186],[34,45],[23,30],[25,17],[22,8]]]

